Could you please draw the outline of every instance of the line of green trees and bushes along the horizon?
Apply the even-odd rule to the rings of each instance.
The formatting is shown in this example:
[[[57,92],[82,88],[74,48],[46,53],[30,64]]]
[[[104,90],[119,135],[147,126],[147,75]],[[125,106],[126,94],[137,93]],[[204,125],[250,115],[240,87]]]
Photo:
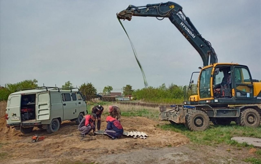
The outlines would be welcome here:
[[[36,79],[24,80],[15,84],[8,83],[6,87],[0,89],[0,100],[7,100],[8,95],[15,92],[18,89],[35,88],[39,87]],[[67,81],[62,88],[72,88],[73,84]],[[181,85],[171,84],[166,87],[166,84],[162,84],[159,87],[144,87],[142,89],[133,90],[131,85],[126,85],[122,88],[123,95],[132,95],[134,99],[143,100],[148,103],[175,103],[182,102],[184,99],[184,91]],[[79,90],[83,95],[86,96],[86,100],[90,100],[96,97],[97,89],[92,83],[83,83],[79,86]],[[113,90],[112,86],[105,86],[103,89],[103,94],[108,95]],[[191,90],[189,90],[189,96],[197,94],[197,86],[192,85]]]

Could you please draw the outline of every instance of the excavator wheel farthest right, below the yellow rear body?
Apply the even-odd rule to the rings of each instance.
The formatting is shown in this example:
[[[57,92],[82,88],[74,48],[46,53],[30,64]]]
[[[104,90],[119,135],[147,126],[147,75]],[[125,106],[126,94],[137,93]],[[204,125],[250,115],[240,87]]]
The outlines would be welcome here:
[[[241,126],[257,128],[260,124],[260,115],[255,109],[245,109],[240,112],[236,123]]]

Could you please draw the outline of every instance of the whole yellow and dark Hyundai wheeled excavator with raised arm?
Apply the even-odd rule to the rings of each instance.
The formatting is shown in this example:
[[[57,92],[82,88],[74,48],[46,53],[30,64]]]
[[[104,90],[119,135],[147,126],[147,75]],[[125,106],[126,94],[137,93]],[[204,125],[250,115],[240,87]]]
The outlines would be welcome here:
[[[234,121],[240,126],[259,126],[261,82],[252,79],[247,66],[218,63],[211,43],[201,36],[179,4],[166,2],[145,6],[129,5],[116,15],[119,20],[129,21],[132,16],[150,16],[158,20],[168,18],[202,58],[203,67],[199,67],[197,95],[189,97],[184,87],[183,104],[173,105],[168,110],[167,106],[159,106],[160,120],[169,120],[173,125],[185,124],[191,131],[204,131],[210,122],[214,125],[228,125]],[[190,80],[188,90],[192,83],[194,81]]]

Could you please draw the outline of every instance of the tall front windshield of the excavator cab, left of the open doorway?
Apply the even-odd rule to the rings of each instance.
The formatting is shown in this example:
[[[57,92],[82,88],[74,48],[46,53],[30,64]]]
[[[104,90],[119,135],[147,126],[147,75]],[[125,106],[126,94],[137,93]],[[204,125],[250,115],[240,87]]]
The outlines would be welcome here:
[[[206,68],[206,69],[201,71],[200,85],[199,85],[200,98],[211,97],[211,94],[210,94],[210,79],[211,79],[212,68],[213,67]]]

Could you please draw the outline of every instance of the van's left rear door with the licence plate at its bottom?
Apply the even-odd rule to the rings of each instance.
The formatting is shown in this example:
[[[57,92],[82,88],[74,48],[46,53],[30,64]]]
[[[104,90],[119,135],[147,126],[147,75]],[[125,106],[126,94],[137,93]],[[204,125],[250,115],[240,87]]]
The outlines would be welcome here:
[[[8,97],[8,122],[12,123],[20,123],[20,107],[21,107],[21,94],[10,95]]]

